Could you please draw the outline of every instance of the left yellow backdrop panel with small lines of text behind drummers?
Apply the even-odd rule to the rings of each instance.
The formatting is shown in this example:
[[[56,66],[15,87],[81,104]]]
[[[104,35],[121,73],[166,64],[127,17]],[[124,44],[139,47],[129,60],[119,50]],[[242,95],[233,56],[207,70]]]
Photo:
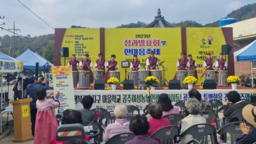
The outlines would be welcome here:
[[[76,54],[77,60],[82,60],[84,54],[89,54],[93,64],[100,52],[100,29],[99,28],[68,28],[63,36],[61,47],[68,47],[66,65],[72,54]],[[61,65],[64,65],[64,58],[61,57]],[[80,67],[77,67],[81,70]]]

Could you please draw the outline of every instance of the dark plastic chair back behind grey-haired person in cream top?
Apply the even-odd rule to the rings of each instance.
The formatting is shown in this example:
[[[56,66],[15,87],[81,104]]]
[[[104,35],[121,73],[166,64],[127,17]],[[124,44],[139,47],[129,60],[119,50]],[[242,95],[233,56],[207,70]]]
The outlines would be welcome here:
[[[196,139],[200,141],[200,143],[208,143],[208,136],[211,138],[212,144],[217,144],[217,136],[216,136],[216,129],[211,124],[196,124],[188,129],[186,131],[182,132],[180,136],[184,138],[187,135],[192,136],[192,139]]]

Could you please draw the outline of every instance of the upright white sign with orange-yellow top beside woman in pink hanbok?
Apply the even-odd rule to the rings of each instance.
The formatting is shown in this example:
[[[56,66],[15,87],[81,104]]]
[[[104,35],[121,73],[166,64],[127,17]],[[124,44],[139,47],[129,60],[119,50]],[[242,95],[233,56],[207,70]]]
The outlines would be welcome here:
[[[65,109],[75,109],[71,66],[52,67],[52,79],[54,93],[60,92],[60,113]]]

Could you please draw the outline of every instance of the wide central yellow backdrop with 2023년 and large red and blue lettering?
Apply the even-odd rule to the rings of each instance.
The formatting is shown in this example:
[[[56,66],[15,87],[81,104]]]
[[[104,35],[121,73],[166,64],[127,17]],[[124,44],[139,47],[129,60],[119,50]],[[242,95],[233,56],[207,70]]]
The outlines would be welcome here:
[[[125,78],[125,70],[121,62],[132,61],[134,54],[138,55],[141,69],[147,68],[146,59],[150,51],[156,52],[159,59],[159,69],[166,71],[166,80],[173,79],[177,60],[181,52],[180,28],[109,28],[105,29],[105,58],[110,60],[111,54],[116,54],[121,81]],[[129,68],[130,70],[130,68]],[[128,71],[129,71],[128,70]]]

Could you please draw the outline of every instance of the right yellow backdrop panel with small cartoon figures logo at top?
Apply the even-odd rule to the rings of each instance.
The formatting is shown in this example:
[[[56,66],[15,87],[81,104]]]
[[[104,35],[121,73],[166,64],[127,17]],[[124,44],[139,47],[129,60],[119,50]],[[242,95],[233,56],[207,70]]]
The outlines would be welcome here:
[[[193,60],[196,61],[198,83],[204,82],[204,60],[207,58],[207,53],[211,53],[212,59],[216,63],[221,53],[221,45],[225,45],[225,37],[221,28],[186,28],[187,36],[187,55],[192,54]],[[225,58],[225,56],[224,56]],[[228,58],[228,57],[227,57]]]

